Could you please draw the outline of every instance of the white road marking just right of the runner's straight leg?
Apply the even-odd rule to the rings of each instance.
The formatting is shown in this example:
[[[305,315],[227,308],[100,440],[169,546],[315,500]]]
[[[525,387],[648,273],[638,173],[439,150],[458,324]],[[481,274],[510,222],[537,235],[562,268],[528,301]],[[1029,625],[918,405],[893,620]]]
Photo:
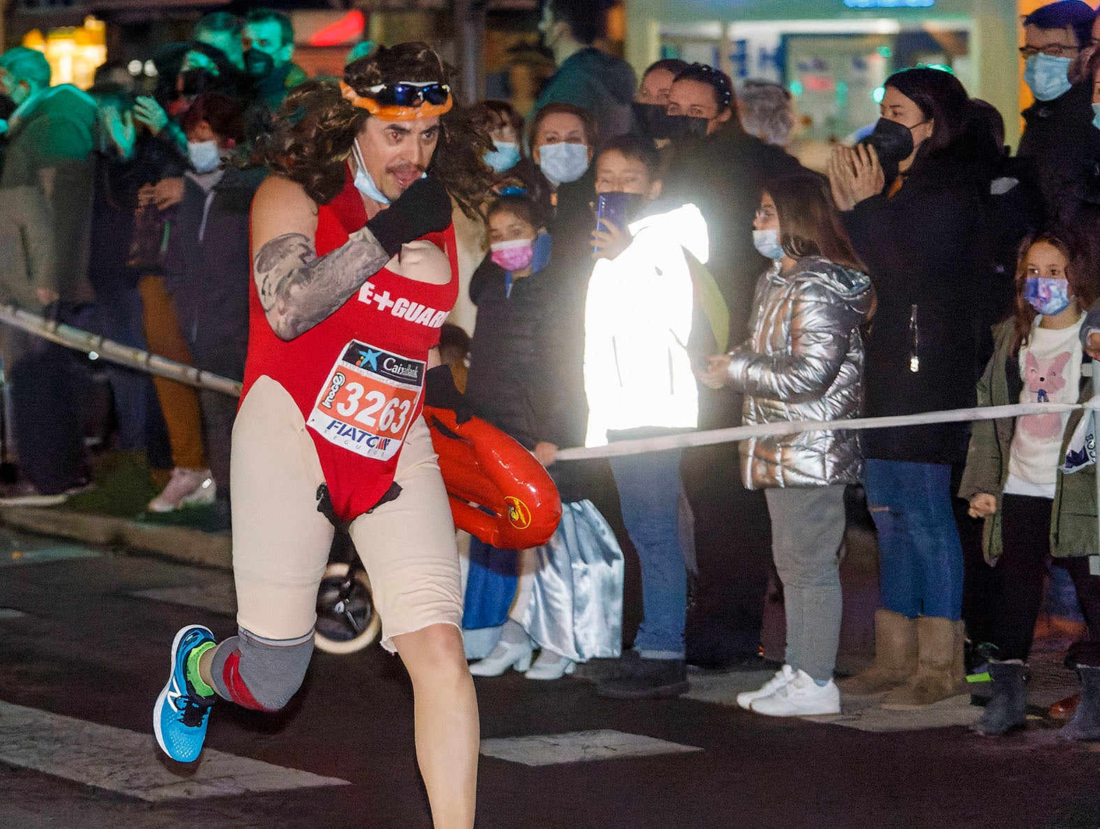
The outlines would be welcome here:
[[[702,751],[695,745],[658,740],[644,734],[601,729],[564,734],[534,734],[482,740],[481,753],[524,765],[556,765],[593,760],[620,760],[653,754],[684,754]]]

